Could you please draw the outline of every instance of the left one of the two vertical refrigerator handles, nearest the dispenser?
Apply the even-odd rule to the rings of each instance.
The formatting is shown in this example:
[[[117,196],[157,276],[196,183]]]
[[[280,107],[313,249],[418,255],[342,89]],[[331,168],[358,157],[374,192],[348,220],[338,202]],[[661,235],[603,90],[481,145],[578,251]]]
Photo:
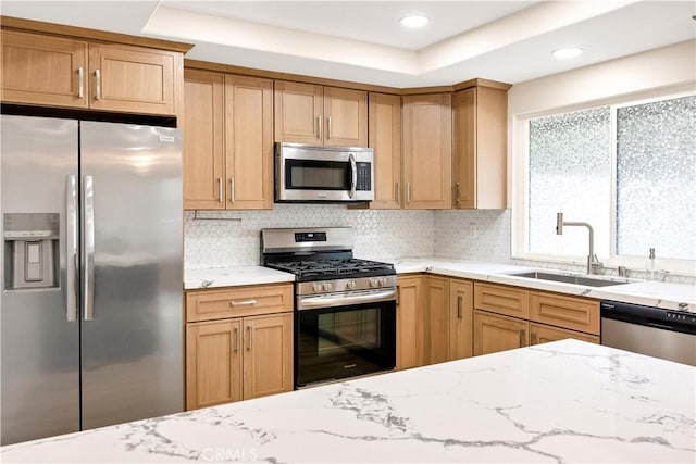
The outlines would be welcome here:
[[[65,178],[65,317],[77,318],[77,181]]]

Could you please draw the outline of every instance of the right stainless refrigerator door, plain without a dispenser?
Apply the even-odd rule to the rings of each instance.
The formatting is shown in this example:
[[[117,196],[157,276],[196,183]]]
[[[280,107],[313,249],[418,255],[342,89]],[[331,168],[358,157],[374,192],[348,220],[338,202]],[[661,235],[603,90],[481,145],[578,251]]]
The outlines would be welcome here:
[[[177,129],[80,123],[83,428],[183,410]]]

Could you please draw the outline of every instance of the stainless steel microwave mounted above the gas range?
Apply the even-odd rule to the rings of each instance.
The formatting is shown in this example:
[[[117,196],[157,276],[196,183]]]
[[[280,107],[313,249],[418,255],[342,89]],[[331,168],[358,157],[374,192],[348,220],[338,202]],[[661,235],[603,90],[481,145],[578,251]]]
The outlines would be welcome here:
[[[303,143],[275,145],[276,202],[374,200],[374,150]]]

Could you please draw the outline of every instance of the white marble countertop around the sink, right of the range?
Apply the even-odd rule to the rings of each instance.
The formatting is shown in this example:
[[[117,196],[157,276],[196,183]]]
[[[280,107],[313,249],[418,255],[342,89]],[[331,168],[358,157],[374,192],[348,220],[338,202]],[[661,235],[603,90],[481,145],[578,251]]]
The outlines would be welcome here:
[[[399,274],[427,272],[449,277],[461,277],[536,290],[596,298],[598,300],[623,301],[666,310],[681,310],[696,313],[696,286],[686,284],[634,280],[631,284],[610,287],[588,287],[507,275],[509,273],[535,271],[532,267],[477,261],[443,261],[442,259],[401,260],[397,261],[395,266]],[[538,271],[561,273],[552,269]]]

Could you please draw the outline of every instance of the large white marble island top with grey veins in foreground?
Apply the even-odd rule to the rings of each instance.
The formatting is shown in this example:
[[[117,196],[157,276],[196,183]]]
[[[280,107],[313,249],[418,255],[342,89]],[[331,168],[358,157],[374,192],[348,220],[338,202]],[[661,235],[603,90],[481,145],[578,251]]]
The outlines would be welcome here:
[[[576,340],[0,449],[10,462],[696,462],[696,367]]]

